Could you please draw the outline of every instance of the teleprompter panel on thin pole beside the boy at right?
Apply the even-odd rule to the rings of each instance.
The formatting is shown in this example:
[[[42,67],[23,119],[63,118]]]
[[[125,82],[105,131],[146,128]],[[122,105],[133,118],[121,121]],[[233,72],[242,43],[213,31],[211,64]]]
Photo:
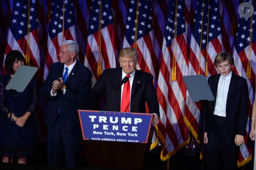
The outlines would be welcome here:
[[[208,101],[214,100],[214,96],[211,92],[211,89],[206,81],[205,76],[203,75],[191,75],[183,76],[183,80],[188,89],[191,99],[194,102],[200,102],[203,104],[203,113],[202,113],[202,164],[201,170],[203,170],[204,165],[204,132],[205,132],[205,107],[207,106]]]

